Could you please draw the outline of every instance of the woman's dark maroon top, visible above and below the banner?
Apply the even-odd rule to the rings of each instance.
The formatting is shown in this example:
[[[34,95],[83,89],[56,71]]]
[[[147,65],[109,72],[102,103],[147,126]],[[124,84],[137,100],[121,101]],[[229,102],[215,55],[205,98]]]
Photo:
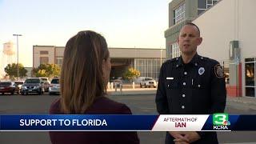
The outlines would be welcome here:
[[[58,98],[50,106],[50,114],[62,114],[60,99]],[[110,98],[98,98],[85,114],[131,114],[130,108],[125,104],[114,102]],[[82,132],[59,132],[50,131],[50,141],[53,144],[138,144],[138,134],[134,131],[82,131]]]

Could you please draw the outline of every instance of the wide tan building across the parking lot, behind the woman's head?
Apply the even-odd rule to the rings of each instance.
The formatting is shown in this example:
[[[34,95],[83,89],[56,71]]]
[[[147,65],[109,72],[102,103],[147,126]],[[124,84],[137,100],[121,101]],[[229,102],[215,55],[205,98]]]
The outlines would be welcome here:
[[[62,66],[63,46],[33,46],[33,67],[42,63]],[[162,62],[166,60],[165,49],[109,48],[111,58],[110,78],[122,77],[125,71],[133,67],[142,77],[158,78]]]

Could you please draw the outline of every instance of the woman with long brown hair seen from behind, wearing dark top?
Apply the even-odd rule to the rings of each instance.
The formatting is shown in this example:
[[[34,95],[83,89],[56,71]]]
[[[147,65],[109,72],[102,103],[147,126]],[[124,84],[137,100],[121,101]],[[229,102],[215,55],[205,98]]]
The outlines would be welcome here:
[[[131,114],[125,104],[106,98],[110,78],[106,40],[94,31],[80,31],[66,43],[60,78],[61,98],[50,114]],[[139,143],[136,132],[50,132],[52,143]]]

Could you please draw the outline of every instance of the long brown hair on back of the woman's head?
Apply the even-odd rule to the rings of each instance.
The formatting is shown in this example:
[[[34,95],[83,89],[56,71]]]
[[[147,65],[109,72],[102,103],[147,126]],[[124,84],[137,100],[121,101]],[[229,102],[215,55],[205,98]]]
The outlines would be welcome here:
[[[110,56],[106,40],[94,31],[80,31],[66,43],[61,73],[61,108],[82,114],[106,92],[102,61]]]

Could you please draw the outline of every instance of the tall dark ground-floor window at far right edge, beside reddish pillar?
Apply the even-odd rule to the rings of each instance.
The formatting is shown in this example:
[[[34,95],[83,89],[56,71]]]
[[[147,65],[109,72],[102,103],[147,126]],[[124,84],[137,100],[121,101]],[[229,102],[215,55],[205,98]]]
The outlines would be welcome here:
[[[246,96],[255,97],[255,59],[245,59]]]

